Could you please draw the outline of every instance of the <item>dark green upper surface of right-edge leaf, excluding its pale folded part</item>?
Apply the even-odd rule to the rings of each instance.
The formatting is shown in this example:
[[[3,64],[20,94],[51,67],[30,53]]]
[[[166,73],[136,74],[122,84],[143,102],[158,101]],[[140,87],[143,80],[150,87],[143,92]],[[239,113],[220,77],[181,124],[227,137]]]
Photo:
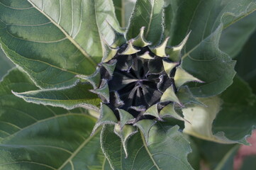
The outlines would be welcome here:
[[[248,145],[246,137],[256,128],[256,96],[239,77],[223,94],[222,110],[213,124],[213,132],[223,131],[230,140]]]

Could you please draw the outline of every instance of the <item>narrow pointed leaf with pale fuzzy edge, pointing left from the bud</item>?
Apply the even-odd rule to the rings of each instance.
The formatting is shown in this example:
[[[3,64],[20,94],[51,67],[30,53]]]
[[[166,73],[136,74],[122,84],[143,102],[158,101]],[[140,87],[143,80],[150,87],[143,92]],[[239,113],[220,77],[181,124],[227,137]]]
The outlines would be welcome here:
[[[66,109],[87,108],[99,110],[101,100],[96,94],[89,91],[91,85],[78,83],[68,89],[48,89],[37,91],[26,91],[22,93],[13,92],[16,96],[27,102],[57,106]]]

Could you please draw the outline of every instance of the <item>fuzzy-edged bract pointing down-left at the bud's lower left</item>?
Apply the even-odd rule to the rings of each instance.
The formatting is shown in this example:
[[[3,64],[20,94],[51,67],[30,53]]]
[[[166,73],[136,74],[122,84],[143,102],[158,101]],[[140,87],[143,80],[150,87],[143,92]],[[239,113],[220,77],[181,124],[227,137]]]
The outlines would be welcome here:
[[[111,108],[108,108],[106,104],[101,103],[101,113],[99,115],[97,123],[94,125],[94,129],[92,130],[91,135],[93,135],[94,132],[96,132],[100,125],[114,125],[116,123],[118,123],[118,120],[116,119],[116,115],[113,113]]]

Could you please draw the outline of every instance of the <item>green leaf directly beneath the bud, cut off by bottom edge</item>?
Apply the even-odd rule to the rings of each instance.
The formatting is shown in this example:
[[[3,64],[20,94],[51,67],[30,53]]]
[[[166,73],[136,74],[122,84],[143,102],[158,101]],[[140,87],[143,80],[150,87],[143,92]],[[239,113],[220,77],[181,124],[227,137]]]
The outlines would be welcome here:
[[[113,125],[105,125],[101,132],[101,147],[113,169],[192,169],[187,162],[189,143],[178,131],[179,127],[156,124],[150,130],[149,145],[141,132],[128,140],[128,157],[121,147]],[[179,141],[179,142],[177,142]]]

